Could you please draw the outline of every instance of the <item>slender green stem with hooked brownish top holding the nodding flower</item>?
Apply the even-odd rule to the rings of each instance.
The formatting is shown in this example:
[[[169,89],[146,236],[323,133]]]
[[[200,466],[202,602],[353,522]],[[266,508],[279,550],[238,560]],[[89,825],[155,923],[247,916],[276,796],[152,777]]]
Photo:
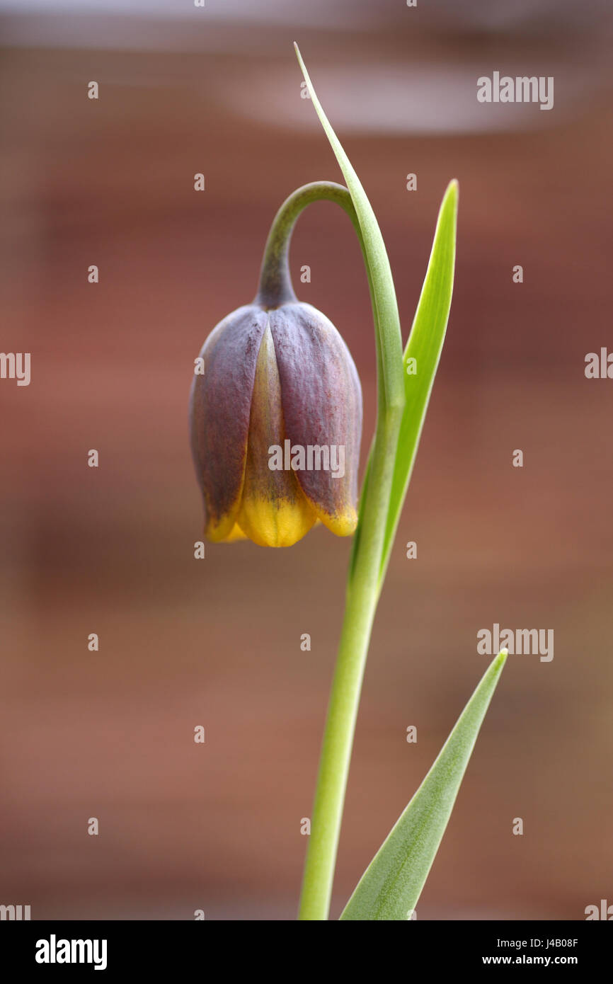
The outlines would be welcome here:
[[[338,837],[353,746],[364,666],[381,590],[380,569],[398,432],[404,407],[398,307],[389,262],[374,216],[365,244],[362,223],[349,191],[317,181],[293,192],[276,213],[262,262],[255,303],[266,308],[296,300],[288,253],[298,215],[317,201],[331,201],[347,213],[360,242],[375,322],[378,413],[375,441],[364,482],[355,534],[337,667],[328,707],[304,870],[300,919],[325,920],[337,860]],[[383,314],[382,314],[383,312]],[[393,358],[393,355],[395,358]],[[384,385],[388,366],[389,385]],[[399,392],[398,392],[399,390]]]

